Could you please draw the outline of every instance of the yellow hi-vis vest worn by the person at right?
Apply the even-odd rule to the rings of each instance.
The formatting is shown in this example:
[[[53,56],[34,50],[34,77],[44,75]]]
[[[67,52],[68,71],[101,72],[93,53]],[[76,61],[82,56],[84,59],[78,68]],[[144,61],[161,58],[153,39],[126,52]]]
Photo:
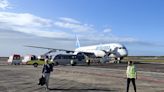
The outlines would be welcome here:
[[[136,78],[136,68],[134,65],[128,66],[126,70],[127,78]]]

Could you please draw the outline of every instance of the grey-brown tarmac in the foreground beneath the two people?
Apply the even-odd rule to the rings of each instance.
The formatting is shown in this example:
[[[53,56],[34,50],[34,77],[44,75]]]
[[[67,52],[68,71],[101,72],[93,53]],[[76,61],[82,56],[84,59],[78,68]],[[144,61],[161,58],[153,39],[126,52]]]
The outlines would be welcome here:
[[[137,92],[164,92],[163,64],[136,64]],[[0,92],[46,92],[42,66],[0,65]],[[126,92],[126,64],[55,66],[47,92]],[[132,84],[132,83],[131,83]],[[130,85],[129,92],[133,91]]]

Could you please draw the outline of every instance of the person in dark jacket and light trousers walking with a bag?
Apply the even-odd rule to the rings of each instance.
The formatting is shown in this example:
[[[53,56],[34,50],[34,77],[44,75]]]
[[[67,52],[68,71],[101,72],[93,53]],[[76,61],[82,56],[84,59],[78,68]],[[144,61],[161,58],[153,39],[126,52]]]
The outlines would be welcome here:
[[[43,65],[42,74],[45,78],[46,90],[49,89],[49,78],[50,73],[53,71],[53,65],[49,64],[48,59],[45,59],[45,64]]]

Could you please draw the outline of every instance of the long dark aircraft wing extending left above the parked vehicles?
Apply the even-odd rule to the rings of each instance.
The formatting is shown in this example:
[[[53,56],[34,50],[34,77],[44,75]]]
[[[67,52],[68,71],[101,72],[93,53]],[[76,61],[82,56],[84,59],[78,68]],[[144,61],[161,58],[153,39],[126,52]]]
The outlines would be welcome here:
[[[31,48],[40,48],[40,49],[48,49],[50,51],[65,51],[66,53],[74,53],[73,50],[66,50],[66,49],[55,49],[55,48],[48,48],[48,47],[40,47],[40,46],[25,46],[25,47],[31,47]]]

